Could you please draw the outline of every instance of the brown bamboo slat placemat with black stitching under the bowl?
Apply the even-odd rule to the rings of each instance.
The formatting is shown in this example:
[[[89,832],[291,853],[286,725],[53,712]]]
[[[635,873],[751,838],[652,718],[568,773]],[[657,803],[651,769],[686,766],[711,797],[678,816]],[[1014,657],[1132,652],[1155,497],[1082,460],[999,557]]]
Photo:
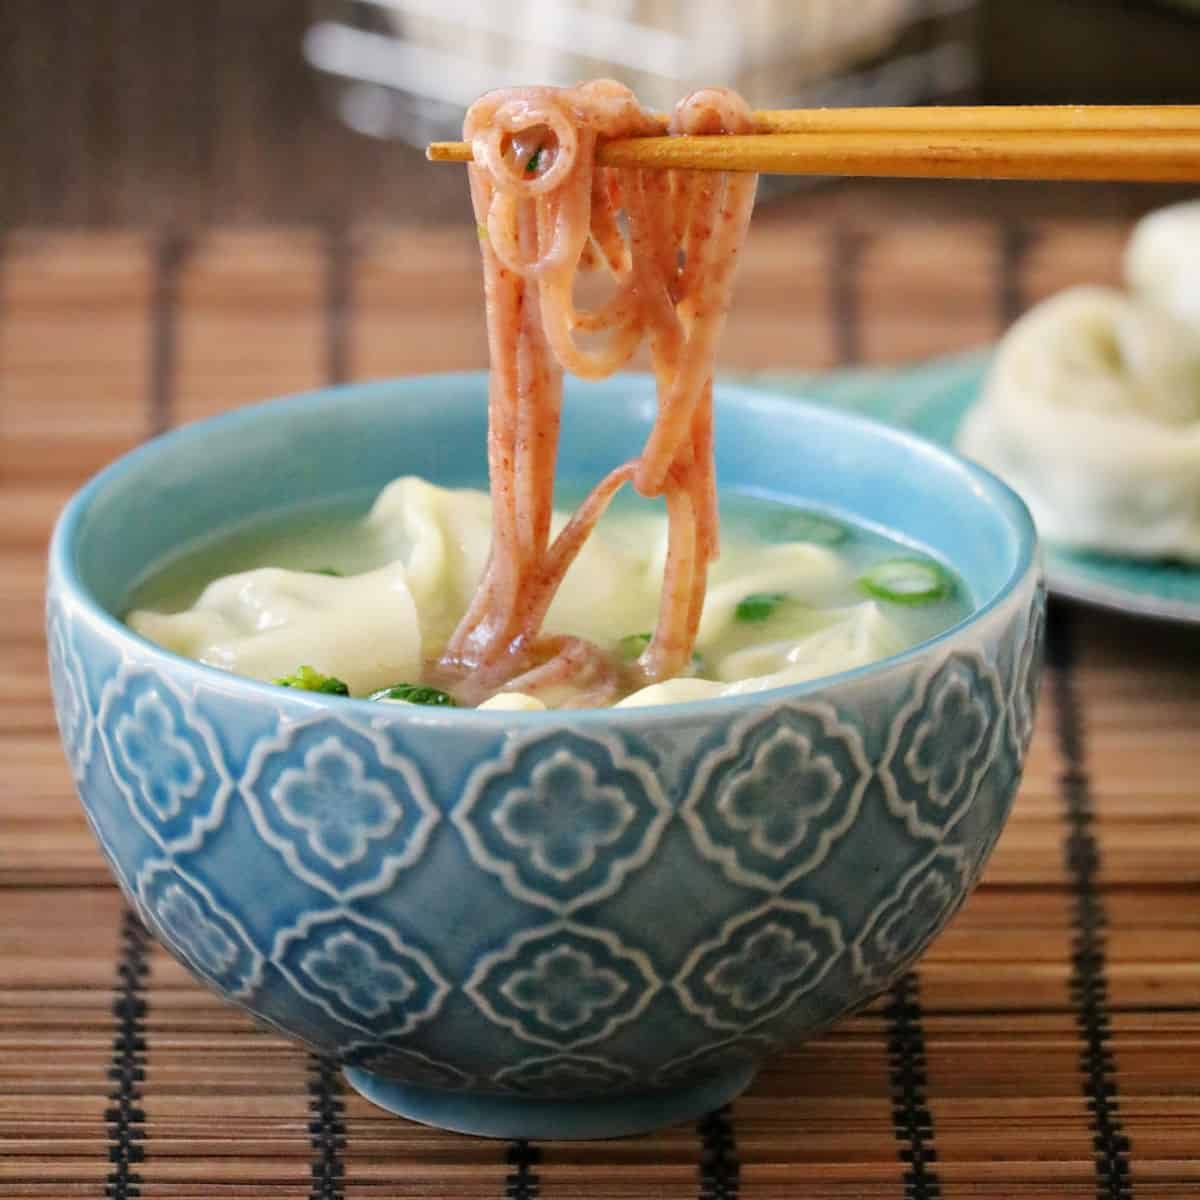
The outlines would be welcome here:
[[[764,212],[728,367],[901,361],[1115,278],[1124,228]],[[390,1117],[125,910],[60,757],[50,522],[166,426],[481,366],[470,230],[16,233],[0,257],[0,1195],[1200,1196],[1200,642],[1073,607],[1012,823],[919,968],[695,1127],[482,1141]]]

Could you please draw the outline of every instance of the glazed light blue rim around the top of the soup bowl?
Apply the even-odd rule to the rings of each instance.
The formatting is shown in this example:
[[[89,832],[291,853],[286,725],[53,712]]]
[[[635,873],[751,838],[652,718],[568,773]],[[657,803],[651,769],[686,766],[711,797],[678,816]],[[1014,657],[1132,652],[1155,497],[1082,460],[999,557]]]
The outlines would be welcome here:
[[[193,676],[199,683],[216,685],[221,690],[234,690],[245,694],[248,698],[258,698],[272,707],[278,707],[283,700],[281,695],[284,689],[275,684],[264,683],[259,679],[251,679],[246,676],[238,676],[220,667],[209,666],[196,659],[186,658],[173,650],[164,649],[155,642],[142,637],[130,629],[124,622],[114,617],[104,608],[84,584],[76,571],[73,548],[78,526],[91,505],[92,499],[116,478],[122,475],[131,467],[137,466],[145,458],[152,458],[161,454],[163,449],[178,445],[184,442],[204,437],[214,431],[228,431],[247,421],[262,420],[263,414],[275,410],[304,410],[306,408],[318,408],[330,403],[335,398],[349,398],[353,396],[371,396],[377,392],[394,392],[397,386],[404,386],[409,380],[439,379],[446,384],[479,384],[487,380],[487,371],[442,371],[414,373],[407,376],[395,376],[384,379],[372,379],[356,383],[336,384],[326,388],[312,389],[302,392],[293,392],[284,396],[276,396],[269,400],[244,404],[227,413],[192,421],[187,425],[178,426],[164,433],[143,442],[132,450],[126,451],[120,457],[110,462],[97,472],[86,484],[84,484],[66,503],[54,526],[49,547],[49,570],[47,576],[47,595],[50,589],[58,587],[64,594],[73,598],[76,607],[82,610],[91,623],[98,625],[104,634],[114,641],[121,650],[122,658],[137,654],[140,658],[149,658],[151,664],[157,661],[164,671],[173,676]],[[644,385],[652,377],[644,372],[617,372],[606,383],[620,384],[623,380],[630,384]],[[568,382],[570,385],[570,382]],[[1003,480],[994,475],[986,468],[965,458],[954,450],[941,446],[919,434],[896,426],[887,425],[874,418],[863,416],[858,413],[846,412],[805,400],[803,396],[774,391],[769,386],[757,386],[738,382],[724,383],[720,378],[715,380],[719,395],[732,397],[738,404],[761,408],[782,408],[793,414],[799,410],[809,410],[820,414],[822,420],[829,420],[842,425],[850,430],[865,430],[876,436],[883,436],[910,452],[924,456],[928,460],[937,461],[943,468],[949,467],[967,486],[982,493],[984,498],[994,504],[1003,515],[1006,521],[1015,529],[1018,535],[1016,564],[1004,580],[1003,584],[984,604],[973,608],[961,620],[955,622],[949,628],[936,634],[934,637],[917,642],[899,654],[890,654],[886,658],[868,662],[864,666],[852,667],[847,671],[839,671],[835,674],[818,676],[802,683],[787,684],[781,688],[769,688],[763,691],[750,692],[740,696],[715,696],[704,700],[678,701],[665,704],[644,704],[630,708],[577,708],[577,709],[546,709],[539,712],[512,712],[506,709],[478,709],[478,708],[431,708],[425,706],[389,706],[386,713],[380,713],[380,706],[376,701],[346,696],[325,696],[317,692],[298,691],[287,689],[288,707],[311,708],[313,712],[334,712],[355,715],[360,719],[372,718],[378,720],[386,716],[388,724],[403,724],[428,726],[428,727],[462,727],[470,721],[479,721],[486,728],[500,731],[508,727],[518,727],[523,731],[536,731],[538,728],[560,728],[565,726],[647,726],[678,721],[679,719],[704,719],[704,718],[737,718],[762,708],[764,704],[775,706],[790,700],[798,700],[822,692],[829,688],[852,684],[871,674],[882,674],[898,667],[912,664],[913,661],[930,655],[948,642],[962,637],[973,626],[986,620],[996,610],[1001,608],[1012,595],[1019,589],[1021,583],[1028,577],[1031,571],[1039,570],[1038,535],[1025,502]],[[334,702],[332,704],[330,702]]]

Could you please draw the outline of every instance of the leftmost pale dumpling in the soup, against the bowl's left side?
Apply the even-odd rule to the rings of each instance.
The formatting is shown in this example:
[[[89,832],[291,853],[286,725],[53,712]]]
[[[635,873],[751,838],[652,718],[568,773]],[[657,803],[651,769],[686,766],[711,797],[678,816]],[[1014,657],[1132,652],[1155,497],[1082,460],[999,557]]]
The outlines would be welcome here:
[[[360,696],[421,671],[416,605],[398,563],[346,578],[263,566],[215,580],[185,612],[134,610],[126,622],[164,649],[251,679],[311,666]]]

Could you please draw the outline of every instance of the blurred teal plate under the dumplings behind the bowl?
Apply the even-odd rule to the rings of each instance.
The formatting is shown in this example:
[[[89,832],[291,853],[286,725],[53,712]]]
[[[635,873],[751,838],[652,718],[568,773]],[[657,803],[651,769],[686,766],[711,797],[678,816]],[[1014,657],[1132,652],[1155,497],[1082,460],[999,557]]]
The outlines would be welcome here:
[[[935,359],[911,367],[804,376],[760,371],[742,378],[773,391],[832,404],[899,425],[950,445],[979,395],[990,355]],[[1200,569],[1144,563],[1046,546],[1046,586],[1061,596],[1117,612],[1200,624]]]

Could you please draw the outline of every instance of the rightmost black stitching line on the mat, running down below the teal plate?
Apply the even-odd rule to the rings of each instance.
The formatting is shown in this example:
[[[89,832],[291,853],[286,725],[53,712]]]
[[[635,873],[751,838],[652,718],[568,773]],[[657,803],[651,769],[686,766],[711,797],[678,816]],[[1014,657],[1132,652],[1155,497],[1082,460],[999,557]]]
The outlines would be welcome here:
[[[1084,1098],[1091,1112],[1090,1129],[1096,1153],[1098,1200],[1129,1200],[1129,1138],[1121,1122],[1117,1066],[1109,1027],[1108,954],[1104,930],[1108,917],[1097,886],[1100,850],[1093,833],[1096,815],[1085,766],[1084,726],[1075,694],[1075,646],[1069,612],[1051,604],[1048,654],[1050,688],[1063,758],[1063,817],[1067,836],[1063,853],[1072,887],[1070,998],[1082,1040],[1079,1066]]]

